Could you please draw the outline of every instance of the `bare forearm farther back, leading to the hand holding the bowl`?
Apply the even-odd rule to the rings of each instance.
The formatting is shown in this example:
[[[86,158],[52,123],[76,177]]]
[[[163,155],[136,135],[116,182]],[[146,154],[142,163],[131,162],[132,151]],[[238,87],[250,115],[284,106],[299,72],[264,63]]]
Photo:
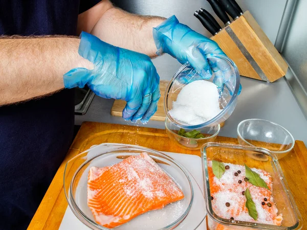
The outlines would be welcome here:
[[[118,47],[155,57],[157,48],[152,37],[152,28],[163,20],[165,18],[140,16],[111,8],[98,20],[91,33]]]

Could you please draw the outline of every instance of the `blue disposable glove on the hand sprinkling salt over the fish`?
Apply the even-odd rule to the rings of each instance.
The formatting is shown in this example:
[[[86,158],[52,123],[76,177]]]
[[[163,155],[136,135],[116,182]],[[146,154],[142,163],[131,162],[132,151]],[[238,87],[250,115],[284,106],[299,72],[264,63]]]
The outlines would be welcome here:
[[[96,95],[127,102],[123,118],[146,123],[157,111],[159,75],[147,55],[121,49],[82,32],[79,55],[94,63],[93,70],[74,68],[63,76],[65,88],[87,84]]]

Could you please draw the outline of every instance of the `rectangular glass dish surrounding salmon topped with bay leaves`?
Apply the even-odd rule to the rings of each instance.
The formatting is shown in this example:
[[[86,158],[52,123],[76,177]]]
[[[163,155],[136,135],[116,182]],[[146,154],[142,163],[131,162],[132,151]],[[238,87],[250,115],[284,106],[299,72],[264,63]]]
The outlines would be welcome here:
[[[269,150],[257,147],[248,147],[230,144],[207,143],[202,149],[202,164],[204,175],[204,193],[207,209],[207,227],[210,230],[216,229],[301,229],[302,221],[292,194],[289,191],[287,181],[283,177],[282,170],[276,156]],[[208,176],[208,162],[216,160],[222,163],[235,165],[247,164],[250,168],[256,168],[269,172],[273,182],[273,197],[277,214],[282,214],[281,226],[234,221],[218,216],[211,202],[210,184]]]

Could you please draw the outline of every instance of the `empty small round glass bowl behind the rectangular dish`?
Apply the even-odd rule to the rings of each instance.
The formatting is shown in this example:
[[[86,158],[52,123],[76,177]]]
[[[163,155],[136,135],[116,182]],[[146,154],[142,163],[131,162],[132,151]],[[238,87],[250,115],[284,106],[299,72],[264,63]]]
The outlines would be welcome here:
[[[237,139],[240,145],[266,148],[278,159],[286,156],[294,147],[291,133],[282,126],[262,119],[248,119],[237,127]]]

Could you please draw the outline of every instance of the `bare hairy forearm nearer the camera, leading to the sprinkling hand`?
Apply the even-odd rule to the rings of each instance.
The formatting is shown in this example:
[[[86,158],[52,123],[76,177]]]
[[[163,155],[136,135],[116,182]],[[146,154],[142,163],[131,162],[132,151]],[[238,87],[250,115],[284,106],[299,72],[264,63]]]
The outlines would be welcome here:
[[[78,55],[78,38],[0,39],[0,105],[51,94],[64,87],[63,74],[93,67]]]

